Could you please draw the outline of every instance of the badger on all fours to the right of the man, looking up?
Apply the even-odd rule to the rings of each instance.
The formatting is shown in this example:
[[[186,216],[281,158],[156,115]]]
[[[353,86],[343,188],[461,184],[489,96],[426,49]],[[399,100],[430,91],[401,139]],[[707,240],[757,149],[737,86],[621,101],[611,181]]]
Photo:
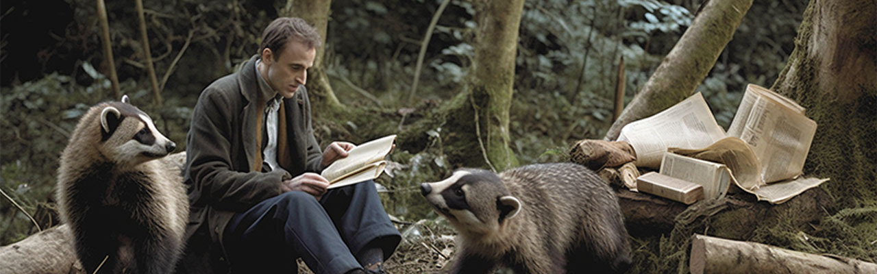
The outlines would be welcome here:
[[[451,273],[624,272],[631,248],[609,184],[574,163],[532,164],[496,174],[457,169],[420,185],[457,230]]]

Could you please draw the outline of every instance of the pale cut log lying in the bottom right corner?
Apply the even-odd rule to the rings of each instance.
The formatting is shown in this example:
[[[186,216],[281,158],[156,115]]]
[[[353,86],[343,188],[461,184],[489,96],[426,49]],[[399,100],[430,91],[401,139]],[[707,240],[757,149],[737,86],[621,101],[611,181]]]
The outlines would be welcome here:
[[[877,273],[877,264],[695,234],[691,273]]]

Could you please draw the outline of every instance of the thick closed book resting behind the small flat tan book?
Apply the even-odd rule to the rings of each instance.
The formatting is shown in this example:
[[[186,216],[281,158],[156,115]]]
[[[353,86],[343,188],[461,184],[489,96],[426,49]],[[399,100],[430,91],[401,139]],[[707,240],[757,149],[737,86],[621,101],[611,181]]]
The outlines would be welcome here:
[[[731,169],[724,164],[671,152],[664,153],[660,174],[700,184],[703,187],[703,198],[720,198],[731,185]]]

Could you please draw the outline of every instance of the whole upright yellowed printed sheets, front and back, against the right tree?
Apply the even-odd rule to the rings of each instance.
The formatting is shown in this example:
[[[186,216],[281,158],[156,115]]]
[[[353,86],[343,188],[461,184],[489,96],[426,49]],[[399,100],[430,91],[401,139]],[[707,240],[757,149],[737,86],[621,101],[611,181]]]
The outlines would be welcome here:
[[[802,174],[816,134],[816,122],[803,112],[800,105],[771,90],[753,84],[746,88],[728,135],[752,146],[763,163],[760,173],[766,183]]]

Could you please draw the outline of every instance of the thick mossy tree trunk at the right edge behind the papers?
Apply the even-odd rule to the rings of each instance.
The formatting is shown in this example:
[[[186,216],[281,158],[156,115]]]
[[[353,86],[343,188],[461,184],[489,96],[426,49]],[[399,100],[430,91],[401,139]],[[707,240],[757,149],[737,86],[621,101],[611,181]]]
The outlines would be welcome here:
[[[772,90],[807,108],[818,127],[804,172],[841,205],[877,204],[877,25],[873,0],[813,0],[795,51]]]

